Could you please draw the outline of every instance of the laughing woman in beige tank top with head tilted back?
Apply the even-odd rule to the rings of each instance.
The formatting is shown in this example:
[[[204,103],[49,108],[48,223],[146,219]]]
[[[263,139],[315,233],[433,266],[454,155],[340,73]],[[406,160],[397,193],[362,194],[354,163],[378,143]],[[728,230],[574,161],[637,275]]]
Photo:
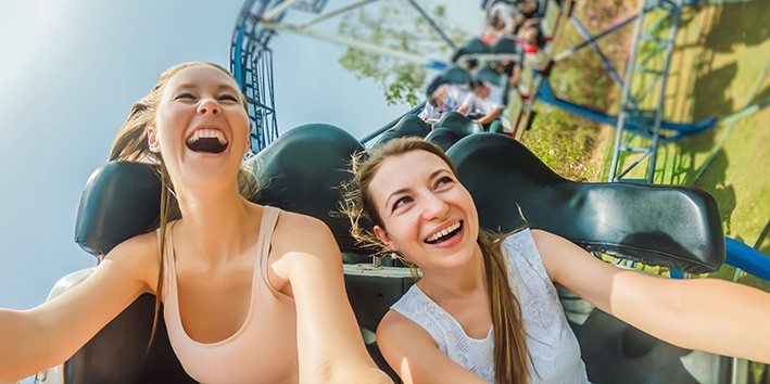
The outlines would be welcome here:
[[[328,227],[241,193],[245,105],[232,76],[210,63],[167,69],[134,104],[111,159],[157,166],[161,228],[116,246],[55,299],[0,309],[0,381],[61,363],[152,293],[200,382],[390,382],[364,347]]]

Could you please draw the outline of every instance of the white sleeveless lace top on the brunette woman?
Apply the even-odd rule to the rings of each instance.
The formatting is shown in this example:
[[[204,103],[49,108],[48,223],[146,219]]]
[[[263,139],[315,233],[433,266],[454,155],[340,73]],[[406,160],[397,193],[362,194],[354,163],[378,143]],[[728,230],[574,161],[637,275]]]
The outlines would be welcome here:
[[[533,383],[586,383],[580,346],[545,272],[532,233],[522,230],[504,240],[508,281],[521,304]],[[441,351],[480,377],[494,381],[494,330],[483,340],[469,337],[449,312],[415,284],[391,308],[416,322]]]

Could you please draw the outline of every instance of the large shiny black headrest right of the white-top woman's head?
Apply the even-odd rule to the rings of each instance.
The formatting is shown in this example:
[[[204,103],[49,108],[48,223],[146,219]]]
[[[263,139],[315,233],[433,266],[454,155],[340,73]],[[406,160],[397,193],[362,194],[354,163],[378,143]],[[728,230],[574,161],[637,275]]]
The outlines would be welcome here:
[[[496,133],[467,137],[447,155],[474,195],[482,228],[519,228],[518,204],[531,228],[589,251],[693,273],[715,271],[724,261],[717,203],[702,190],[573,182]]]

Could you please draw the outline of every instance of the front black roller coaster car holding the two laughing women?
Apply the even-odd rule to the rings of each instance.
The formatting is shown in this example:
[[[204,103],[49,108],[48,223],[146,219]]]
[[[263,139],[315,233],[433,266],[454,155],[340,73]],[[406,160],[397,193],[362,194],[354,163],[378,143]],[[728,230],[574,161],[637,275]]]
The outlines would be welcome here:
[[[250,167],[261,163],[264,181],[255,201],[315,216],[331,228],[343,258],[365,255],[351,239],[346,220],[330,215],[340,196],[337,187],[349,177],[344,169],[350,155],[362,149],[352,136],[333,126],[315,124],[290,130],[248,161]],[[712,271],[724,258],[716,203],[699,190],[572,182],[558,177],[517,141],[495,133],[469,135],[447,154],[474,195],[484,228],[506,231],[519,227],[518,204],[532,228],[558,233],[589,251],[691,272]],[[84,191],[76,242],[91,254],[104,255],[119,242],[154,230],[159,196],[160,182],[151,166],[126,162],[102,166]],[[379,355],[371,331],[412,284],[408,272],[361,264],[345,264],[344,270],[367,347],[377,363],[394,376]],[[65,277],[58,286],[75,284],[84,274],[88,271]],[[563,303],[592,382],[714,381],[691,369],[699,366],[703,370],[703,361],[707,361],[706,369],[717,367],[710,355],[666,344],[591,310],[590,305],[576,305],[581,302],[575,297],[567,296]],[[137,299],[60,368],[59,379],[190,382],[169,347],[163,322],[150,351],[144,353],[153,305],[150,295]]]

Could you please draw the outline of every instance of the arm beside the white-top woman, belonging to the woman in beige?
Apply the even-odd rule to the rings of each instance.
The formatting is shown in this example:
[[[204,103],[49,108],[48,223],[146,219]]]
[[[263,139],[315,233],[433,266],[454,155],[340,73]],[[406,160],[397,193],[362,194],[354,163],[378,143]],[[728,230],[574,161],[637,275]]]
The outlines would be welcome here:
[[[273,268],[291,284],[296,305],[300,382],[392,382],[364,346],[329,228],[307,216],[283,212],[280,217]]]

